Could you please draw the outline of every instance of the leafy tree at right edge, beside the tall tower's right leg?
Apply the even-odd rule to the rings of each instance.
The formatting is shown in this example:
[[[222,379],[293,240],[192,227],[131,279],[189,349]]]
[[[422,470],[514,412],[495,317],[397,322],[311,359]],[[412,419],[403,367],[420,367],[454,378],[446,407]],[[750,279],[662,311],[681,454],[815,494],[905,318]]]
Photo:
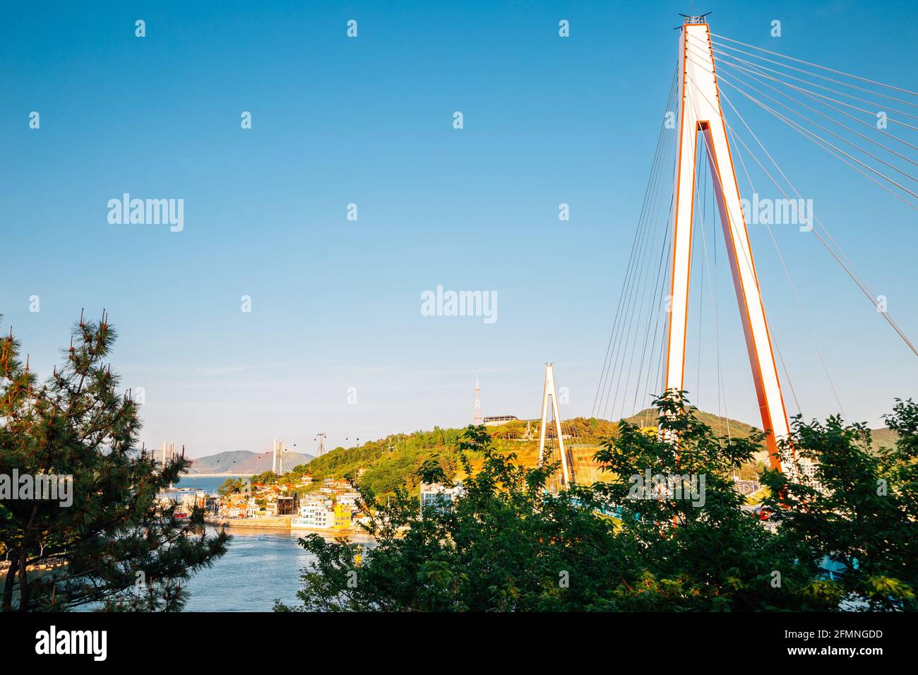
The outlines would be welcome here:
[[[865,424],[795,418],[785,462],[811,460],[812,476],[767,471],[765,501],[783,538],[840,568],[822,591],[850,609],[916,609],[918,589],[918,405],[896,400],[887,427],[895,447],[871,449]]]

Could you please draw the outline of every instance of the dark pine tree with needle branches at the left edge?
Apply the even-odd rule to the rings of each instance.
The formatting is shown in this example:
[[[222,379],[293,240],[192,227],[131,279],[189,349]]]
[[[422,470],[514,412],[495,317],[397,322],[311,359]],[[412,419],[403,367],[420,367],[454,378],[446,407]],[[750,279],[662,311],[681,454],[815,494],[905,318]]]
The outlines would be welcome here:
[[[73,488],[69,506],[0,500],[5,611],[177,610],[185,581],[226,552],[229,536],[207,536],[202,509],[180,523],[174,503],[156,500],[191,462],[162,467],[137,448],[138,405],[106,364],[115,337],[105,317],[81,320],[64,365],[40,386],[12,332],[0,340],[0,475],[71,477]],[[27,571],[49,563],[65,566]]]

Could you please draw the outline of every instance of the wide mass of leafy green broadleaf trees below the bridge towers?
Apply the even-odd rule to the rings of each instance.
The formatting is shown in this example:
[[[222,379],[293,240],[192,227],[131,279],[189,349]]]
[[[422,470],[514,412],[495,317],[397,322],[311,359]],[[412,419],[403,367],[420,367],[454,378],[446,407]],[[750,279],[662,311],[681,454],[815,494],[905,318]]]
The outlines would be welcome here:
[[[558,495],[545,489],[556,466],[521,467],[512,454],[495,452],[485,427],[468,427],[457,449],[470,478],[452,508],[420,512],[414,490],[397,488],[383,502],[364,486],[375,546],[315,534],[300,540],[316,561],[303,570],[296,609],[837,610],[844,602],[914,609],[918,407],[911,401],[900,402],[888,422],[901,442],[875,463],[864,455],[859,427],[798,421],[796,452],[819,457],[817,479],[837,496],[767,472],[773,494],[783,495],[769,503],[779,512],[774,523],[744,506],[731,478],[751,461],[760,435],[717,435],[683,392],[668,392],[655,406],[662,438],[622,421],[597,454],[608,478]],[[471,456],[484,457],[474,474]],[[645,472],[686,484],[704,477],[704,487],[681,499],[643,492]],[[447,478],[431,457],[417,479]],[[884,497],[879,479],[889,486]],[[871,535],[883,541],[870,542]],[[826,557],[850,569],[829,579]]]

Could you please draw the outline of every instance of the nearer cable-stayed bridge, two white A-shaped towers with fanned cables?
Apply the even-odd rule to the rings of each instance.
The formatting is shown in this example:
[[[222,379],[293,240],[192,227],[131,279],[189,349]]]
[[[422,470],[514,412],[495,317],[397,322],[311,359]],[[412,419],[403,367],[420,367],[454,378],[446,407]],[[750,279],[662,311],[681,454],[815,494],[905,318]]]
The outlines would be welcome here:
[[[812,343],[807,348],[812,348],[843,415],[842,400],[773,225],[790,224],[815,238],[841,268],[841,276],[855,285],[865,301],[851,309],[850,321],[885,321],[902,345],[896,359],[910,359],[918,350],[893,318],[886,298],[857,271],[852,260],[856,256],[845,253],[831,223],[824,223],[812,199],[802,196],[799,186],[808,176],[791,176],[782,168],[787,147],[769,142],[767,134],[756,130],[750,111],[799,136],[795,152],[815,146],[814,161],[840,162],[853,180],[867,180],[879,197],[904,205],[907,218],[915,223],[918,92],[713,33],[706,16],[685,17],[678,30],[675,71],[591,416],[628,417],[667,389],[697,394],[702,371],[714,381],[718,415],[728,416],[721,336],[724,323],[735,315],[721,306],[717,279],[729,270],[751,366],[751,389],[768,433],[772,466],[780,467],[777,444],[789,435],[790,405],[791,411],[802,409],[781,343],[767,319],[750,225],[767,231]],[[772,191],[774,197],[760,197],[759,188]],[[719,250],[725,254],[719,255]],[[697,332],[697,354],[689,353],[689,332]],[[713,351],[713,365],[706,368],[701,366],[702,345]],[[794,350],[801,348],[793,345]],[[696,356],[698,379],[687,382],[687,362]],[[554,377],[551,384],[554,387]],[[546,405],[551,400],[548,390],[546,373],[543,435],[546,426],[550,436],[554,430],[552,453],[555,461],[563,460],[558,480],[566,484],[576,479],[570,455],[574,443],[569,440],[565,447],[561,423],[551,423],[551,415],[546,416],[557,416],[556,407]],[[540,456],[543,446],[544,441]]]

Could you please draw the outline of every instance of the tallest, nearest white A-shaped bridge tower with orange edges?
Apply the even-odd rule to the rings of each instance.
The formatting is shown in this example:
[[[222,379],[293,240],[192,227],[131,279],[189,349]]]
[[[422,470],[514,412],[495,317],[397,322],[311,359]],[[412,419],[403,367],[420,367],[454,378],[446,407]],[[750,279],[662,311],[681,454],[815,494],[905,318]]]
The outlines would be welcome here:
[[[695,156],[699,134],[711,169],[723,236],[727,242],[733,287],[743,320],[746,351],[756,385],[762,428],[769,432],[771,466],[780,468],[778,440],[789,435],[788,413],[771,350],[765,307],[758,287],[749,232],[733,169],[727,128],[721,109],[711,31],[705,17],[686,17],[679,39],[679,136],[676,160],[673,276],[666,342],[666,388],[683,389],[689,322],[692,218],[695,211]]]

